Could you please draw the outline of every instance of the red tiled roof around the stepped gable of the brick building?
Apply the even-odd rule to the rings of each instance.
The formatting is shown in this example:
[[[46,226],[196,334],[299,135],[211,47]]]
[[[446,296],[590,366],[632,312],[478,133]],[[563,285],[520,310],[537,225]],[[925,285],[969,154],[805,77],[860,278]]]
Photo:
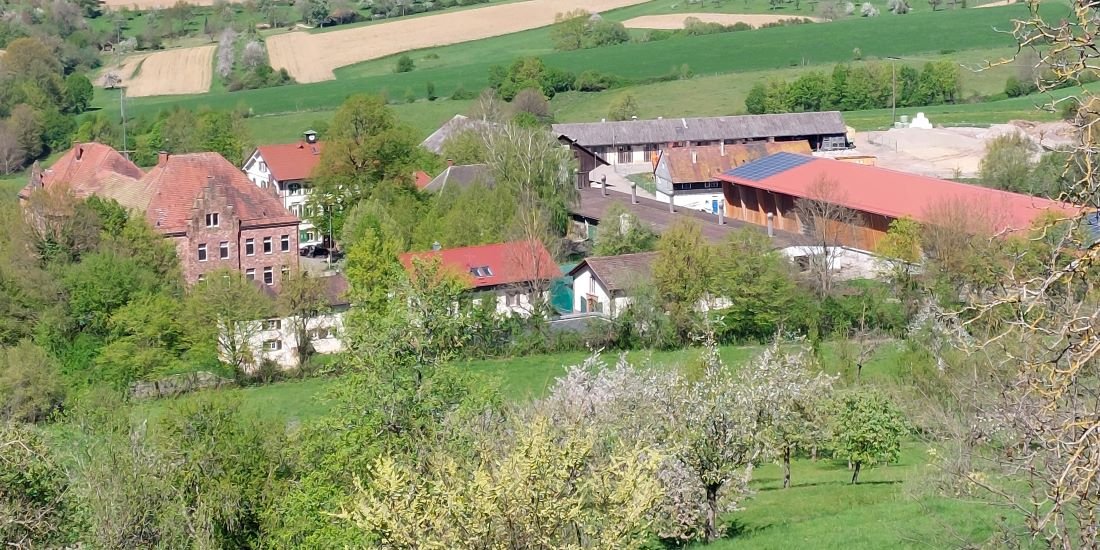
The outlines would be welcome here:
[[[244,227],[298,221],[270,190],[253,184],[218,153],[169,155],[148,170],[142,183],[152,190],[145,215],[165,233],[187,229],[191,207],[208,185],[222,186]]]

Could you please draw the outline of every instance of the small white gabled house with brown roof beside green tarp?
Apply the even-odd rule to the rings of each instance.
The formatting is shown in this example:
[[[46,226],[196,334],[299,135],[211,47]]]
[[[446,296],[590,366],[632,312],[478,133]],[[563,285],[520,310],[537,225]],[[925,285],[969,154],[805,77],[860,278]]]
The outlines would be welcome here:
[[[631,290],[652,278],[656,252],[593,256],[576,264],[573,277],[573,311],[617,317],[629,305]]]

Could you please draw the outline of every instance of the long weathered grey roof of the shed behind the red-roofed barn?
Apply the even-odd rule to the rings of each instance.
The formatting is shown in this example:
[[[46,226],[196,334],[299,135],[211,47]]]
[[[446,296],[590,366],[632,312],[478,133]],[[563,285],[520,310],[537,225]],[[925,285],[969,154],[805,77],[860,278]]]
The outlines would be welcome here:
[[[844,135],[837,111],[746,114],[694,119],[631,120],[554,124],[553,131],[586,147],[670,143],[676,141],[759,140],[806,135]]]

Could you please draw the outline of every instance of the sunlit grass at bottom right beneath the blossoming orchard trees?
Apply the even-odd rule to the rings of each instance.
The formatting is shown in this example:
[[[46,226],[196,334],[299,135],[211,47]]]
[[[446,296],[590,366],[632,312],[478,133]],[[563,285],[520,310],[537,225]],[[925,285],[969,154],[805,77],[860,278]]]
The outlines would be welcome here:
[[[756,495],[726,517],[735,536],[707,550],[795,548],[957,548],[993,535],[1001,510],[935,496],[924,484],[933,468],[920,443],[895,464],[860,472],[850,485],[847,464],[798,460],[791,488],[773,464],[754,472]]]

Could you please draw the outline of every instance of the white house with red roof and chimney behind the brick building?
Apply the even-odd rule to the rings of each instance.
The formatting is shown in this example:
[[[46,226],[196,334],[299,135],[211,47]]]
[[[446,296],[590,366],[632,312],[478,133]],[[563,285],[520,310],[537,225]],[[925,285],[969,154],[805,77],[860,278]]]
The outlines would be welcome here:
[[[311,186],[309,179],[314,169],[321,162],[321,151],[324,144],[318,141],[317,132],[302,134],[302,140],[296,143],[277,145],[260,145],[244,163],[244,173],[249,179],[261,188],[275,190],[283,201],[283,207],[301,219],[298,228],[298,242],[302,246],[321,244],[324,241],[322,231],[314,228],[306,218]]]

